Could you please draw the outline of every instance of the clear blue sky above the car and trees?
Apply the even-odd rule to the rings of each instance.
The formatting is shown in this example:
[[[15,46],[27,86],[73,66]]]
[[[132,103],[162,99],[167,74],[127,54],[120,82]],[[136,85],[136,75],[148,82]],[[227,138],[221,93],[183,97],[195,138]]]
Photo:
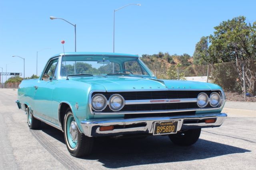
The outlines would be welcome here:
[[[77,24],[77,51],[112,52],[113,10],[116,12],[115,52],[154,54],[159,51],[193,55],[200,37],[213,33],[214,26],[236,16],[256,21],[255,0],[1,0],[0,67],[25,76],[38,74],[46,61],[62,52],[74,51]],[[1,69],[0,69],[1,71]],[[8,78],[8,77],[7,77]],[[5,81],[5,76],[4,76]]]

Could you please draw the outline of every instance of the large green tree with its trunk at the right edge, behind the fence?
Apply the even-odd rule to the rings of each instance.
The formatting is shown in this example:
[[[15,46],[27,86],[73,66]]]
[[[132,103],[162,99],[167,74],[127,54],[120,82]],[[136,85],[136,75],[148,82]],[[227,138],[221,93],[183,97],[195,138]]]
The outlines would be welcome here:
[[[256,71],[250,65],[244,66],[245,80],[242,76],[244,61],[256,59],[256,22],[246,23],[244,16],[223,21],[214,27],[214,35],[210,35],[209,57],[214,63],[236,61],[240,86],[245,81],[246,91],[256,94]],[[205,59],[206,60],[206,59]],[[207,60],[206,60],[207,61]]]

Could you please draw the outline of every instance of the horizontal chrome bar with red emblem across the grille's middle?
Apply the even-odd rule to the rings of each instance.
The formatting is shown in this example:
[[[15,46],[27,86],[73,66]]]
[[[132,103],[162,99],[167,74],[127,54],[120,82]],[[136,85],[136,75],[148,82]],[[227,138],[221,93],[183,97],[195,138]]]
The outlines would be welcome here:
[[[166,103],[191,103],[196,102],[196,98],[186,99],[154,99],[154,100],[126,100],[125,104],[166,104]]]

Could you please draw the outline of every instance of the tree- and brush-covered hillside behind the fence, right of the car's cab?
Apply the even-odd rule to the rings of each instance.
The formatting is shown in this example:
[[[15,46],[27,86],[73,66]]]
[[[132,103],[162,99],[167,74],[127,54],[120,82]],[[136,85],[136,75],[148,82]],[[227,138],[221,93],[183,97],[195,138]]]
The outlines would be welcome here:
[[[212,35],[196,43],[192,57],[160,52],[142,55],[142,60],[158,78],[209,75],[210,81],[225,92],[256,96],[256,21],[249,23],[239,16],[222,21],[214,29]]]

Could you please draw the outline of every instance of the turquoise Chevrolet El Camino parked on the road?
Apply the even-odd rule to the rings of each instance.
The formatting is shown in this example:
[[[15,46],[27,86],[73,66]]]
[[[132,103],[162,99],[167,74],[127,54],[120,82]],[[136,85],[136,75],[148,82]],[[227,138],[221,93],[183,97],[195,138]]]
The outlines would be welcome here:
[[[30,129],[44,122],[63,131],[76,157],[102,136],[168,135],[192,145],[201,128],[222,125],[224,103],[220,86],[159,80],[137,55],[82,52],[50,58],[38,79],[22,81],[17,100]]]

